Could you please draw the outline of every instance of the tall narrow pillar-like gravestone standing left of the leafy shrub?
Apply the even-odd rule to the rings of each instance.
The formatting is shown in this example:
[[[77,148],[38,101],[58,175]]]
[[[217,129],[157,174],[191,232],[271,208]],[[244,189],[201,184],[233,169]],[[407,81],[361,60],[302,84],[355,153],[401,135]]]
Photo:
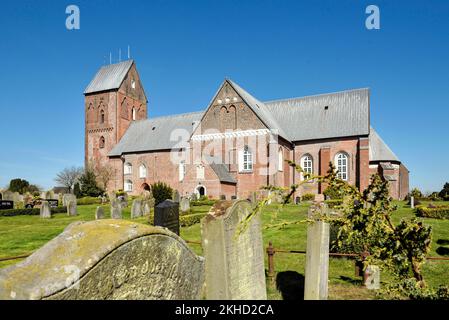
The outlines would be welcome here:
[[[314,222],[307,226],[304,300],[327,300],[328,297],[329,223],[319,218],[327,214],[324,203],[309,208],[308,218]]]

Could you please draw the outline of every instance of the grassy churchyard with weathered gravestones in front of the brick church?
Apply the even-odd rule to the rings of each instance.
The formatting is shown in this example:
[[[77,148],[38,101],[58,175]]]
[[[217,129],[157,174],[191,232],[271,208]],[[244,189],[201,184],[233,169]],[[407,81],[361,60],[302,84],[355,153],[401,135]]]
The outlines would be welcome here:
[[[255,196],[251,201],[201,202],[174,193],[173,200],[156,205],[149,193],[78,205],[83,200],[66,195],[57,208],[42,201],[40,208],[29,209],[37,214],[8,216],[2,212],[11,210],[2,210],[0,298],[381,299],[379,289],[394,281],[393,274],[376,265],[361,271],[358,254],[333,252],[330,243],[335,235],[326,218],[321,220],[336,212],[331,209],[333,201],[319,196],[308,199],[286,205],[273,201],[243,231],[241,222],[260,203]],[[394,205],[392,220],[397,224],[402,218],[419,215],[422,208],[439,208],[445,202],[423,201],[418,208],[412,208],[410,201],[395,201]],[[297,223],[307,219],[315,222]],[[427,256],[435,258],[423,266],[426,284],[448,286],[449,261],[444,260],[447,256],[441,255],[441,248],[449,243],[449,221],[430,217],[424,222],[433,230]],[[115,232],[121,228],[127,231]],[[161,237],[166,239],[162,243]],[[154,260],[145,259],[149,256]],[[67,265],[72,269],[61,269]],[[106,270],[117,265],[120,268],[111,277],[103,278]],[[42,274],[50,269],[61,273]],[[148,269],[167,274],[155,271],[157,280],[149,280],[147,273],[133,271]],[[5,291],[14,279],[20,279],[20,291]],[[96,281],[111,283],[115,289],[96,287]],[[168,285],[178,282],[189,288],[189,295],[179,295]]]

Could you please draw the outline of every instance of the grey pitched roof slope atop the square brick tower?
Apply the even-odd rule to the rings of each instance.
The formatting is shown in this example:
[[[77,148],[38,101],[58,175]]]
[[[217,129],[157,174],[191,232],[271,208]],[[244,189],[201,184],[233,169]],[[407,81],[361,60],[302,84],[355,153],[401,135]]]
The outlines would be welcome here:
[[[126,60],[101,67],[87,86],[84,94],[120,88],[133,63],[134,60]]]

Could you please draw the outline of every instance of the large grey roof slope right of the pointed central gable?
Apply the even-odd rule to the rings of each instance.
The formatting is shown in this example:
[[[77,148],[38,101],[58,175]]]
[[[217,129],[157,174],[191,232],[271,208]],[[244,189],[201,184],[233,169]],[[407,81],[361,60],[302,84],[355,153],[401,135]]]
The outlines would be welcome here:
[[[265,106],[291,141],[369,134],[366,88],[268,101]]]

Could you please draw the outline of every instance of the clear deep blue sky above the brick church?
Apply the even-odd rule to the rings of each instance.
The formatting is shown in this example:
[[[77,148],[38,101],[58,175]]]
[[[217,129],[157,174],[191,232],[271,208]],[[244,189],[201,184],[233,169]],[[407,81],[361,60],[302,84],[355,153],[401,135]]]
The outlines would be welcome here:
[[[380,30],[365,28],[369,4]],[[0,187],[48,189],[83,165],[82,92],[128,45],[149,117],[204,109],[225,77],[260,100],[369,87],[411,186],[449,181],[449,1],[8,1],[0,35]]]

